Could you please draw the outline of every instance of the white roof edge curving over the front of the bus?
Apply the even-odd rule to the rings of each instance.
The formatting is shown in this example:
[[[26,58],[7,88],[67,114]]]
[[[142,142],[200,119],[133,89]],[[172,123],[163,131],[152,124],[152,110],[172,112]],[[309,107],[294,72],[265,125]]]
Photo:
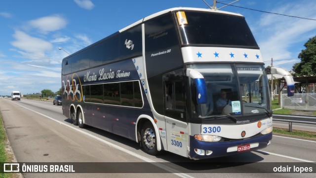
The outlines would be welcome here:
[[[233,13],[233,12],[227,12],[227,11],[221,11],[221,10],[213,10],[213,9],[204,9],[204,8],[194,8],[194,7],[174,7],[174,8],[170,8],[170,9],[165,9],[165,10],[162,10],[160,12],[157,12],[157,13],[154,13],[150,16],[147,16],[121,30],[119,30],[118,32],[121,33],[127,29],[130,29],[138,24],[141,24],[142,22],[145,22],[147,20],[150,20],[150,19],[153,19],[155,17],[158,17],[159,15],[162,15],[162,14],[166,14],[168,12],[172,12],[172,11],[179,11],[179,10],[195,10],[195,11],[203,11],[203,12],[214,12],[214,13],[222,13],[222,14],[230,14],[230,15],[237,15],[237,16],[242,16],[241,14],[237,14],[237,13]]]

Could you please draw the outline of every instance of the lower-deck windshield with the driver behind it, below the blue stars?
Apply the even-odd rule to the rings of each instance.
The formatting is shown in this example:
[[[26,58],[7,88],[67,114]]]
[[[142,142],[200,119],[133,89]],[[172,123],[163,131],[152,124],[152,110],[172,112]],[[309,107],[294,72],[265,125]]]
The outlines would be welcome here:
[[[269,113],[268,80],[262,65],[193,64],[188,68],[203,75],[207,89],[207,103],[197,104],[196,86],[190,80],[192,118]]]

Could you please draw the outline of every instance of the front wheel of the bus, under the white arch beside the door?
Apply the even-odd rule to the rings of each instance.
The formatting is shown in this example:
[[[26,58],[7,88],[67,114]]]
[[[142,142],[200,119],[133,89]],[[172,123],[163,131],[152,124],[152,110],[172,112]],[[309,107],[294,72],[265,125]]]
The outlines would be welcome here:
[[[150,155],[157,155],[157,141],[154,126],[150,122],[145,122],[141,131],[141,142],[144,151]]]

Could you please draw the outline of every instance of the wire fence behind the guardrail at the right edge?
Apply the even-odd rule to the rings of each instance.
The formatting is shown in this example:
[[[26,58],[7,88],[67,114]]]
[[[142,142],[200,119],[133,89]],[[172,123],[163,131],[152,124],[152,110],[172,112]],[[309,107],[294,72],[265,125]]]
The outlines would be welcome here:
[[[295,93],[288,97],[282,94],[282,106],[293,110],[316,110],[316,93]]]

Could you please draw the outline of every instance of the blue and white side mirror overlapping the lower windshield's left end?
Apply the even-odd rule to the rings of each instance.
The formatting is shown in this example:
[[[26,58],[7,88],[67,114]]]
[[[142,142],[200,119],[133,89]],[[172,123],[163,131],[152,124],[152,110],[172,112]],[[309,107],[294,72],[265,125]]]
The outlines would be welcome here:
[[[203,75],[193,69],[187,69],[186,75],[192,78],[196,84],[197,91],[197,104],[206,104],[207,103],[207,92],[206,84]]]

